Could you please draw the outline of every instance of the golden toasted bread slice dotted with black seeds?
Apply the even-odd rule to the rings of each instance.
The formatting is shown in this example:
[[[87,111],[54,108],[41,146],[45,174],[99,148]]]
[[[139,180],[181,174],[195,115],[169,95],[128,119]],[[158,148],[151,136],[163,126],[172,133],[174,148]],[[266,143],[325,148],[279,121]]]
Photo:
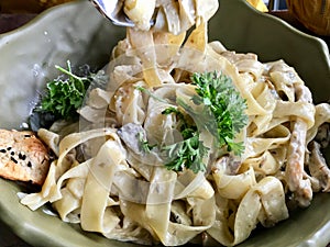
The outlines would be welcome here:
[[[48,168],[48,148],[33,132],[0,130],[0,177],[42,186]]]

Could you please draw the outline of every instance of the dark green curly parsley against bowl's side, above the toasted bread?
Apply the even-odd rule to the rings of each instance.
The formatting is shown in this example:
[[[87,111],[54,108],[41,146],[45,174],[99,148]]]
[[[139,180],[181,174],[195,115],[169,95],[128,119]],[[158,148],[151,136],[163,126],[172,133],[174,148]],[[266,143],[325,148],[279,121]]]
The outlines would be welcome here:
[[[109,79],[103,70],[94,74],[88,65],[73,69],[69,60],[67,69],[57,65],[55,68],[62,75],[47,81],[29,116],[29,125],[33,131],[48,128],[57,120],[76,121],[79,116],[77,110],[81,108],[88,88],[103,89]]]

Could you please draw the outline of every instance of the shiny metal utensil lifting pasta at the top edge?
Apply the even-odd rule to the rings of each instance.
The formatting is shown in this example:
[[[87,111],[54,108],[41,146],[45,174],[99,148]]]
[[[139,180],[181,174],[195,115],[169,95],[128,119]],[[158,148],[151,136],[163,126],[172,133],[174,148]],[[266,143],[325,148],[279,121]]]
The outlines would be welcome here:
[[[123,0],[90,0],[97,10],[114,25],[133,27],[134,23],[123,11]]]

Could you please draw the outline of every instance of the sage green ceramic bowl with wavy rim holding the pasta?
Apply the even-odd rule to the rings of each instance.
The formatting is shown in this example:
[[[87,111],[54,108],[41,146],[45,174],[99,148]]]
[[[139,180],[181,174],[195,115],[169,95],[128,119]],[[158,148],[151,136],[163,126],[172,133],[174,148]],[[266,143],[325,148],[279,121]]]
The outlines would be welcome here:
[[[124,29],[113,26],[89,1],[55,7],[0,35],[0,127],[21,126],[45,80],[57,76],[55,64],[65,66],[70,59],[74,65],[101,68],[124,35]],[[228,49],[256,53],[262,61],[284,59],[296,68],[316,102],[329,99],[329,50],[321,40],[255,11],[245,0],[221,0],[209,36]],[[84,233],[79,226],[46,214],[46,207],[32,212],[20,204],[19,191],[16,183],[0,179],[0,217],[32,246],[136,246]],[[329,209],[329,194],[317,194],[308,209],[296,211],[273,228],[253,232],[240,246],[326,246],[330,243]]]

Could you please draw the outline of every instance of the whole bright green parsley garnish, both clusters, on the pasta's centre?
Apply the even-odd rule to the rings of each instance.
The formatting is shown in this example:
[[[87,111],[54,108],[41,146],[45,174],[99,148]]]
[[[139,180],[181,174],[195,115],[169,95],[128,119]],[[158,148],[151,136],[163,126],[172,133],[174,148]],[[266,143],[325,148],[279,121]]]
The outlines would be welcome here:
[[[183,141],[161,148],[165,150],[168,162],[165,167],[182,171],[184,168],[194,172],[205,171],[204,157],[209,148],[199,139],[199,131],[208,131],[217,141],[218,148],[227,148],[240,156],[244,151],[242,142],[235,142],[238,133],[248,124],[246,100],[235,89],[230,77],[213,72],[194,74],[191,82],[196,85],[196,96],[191,97],[195,105],[200,105],[198,112],[183,99],[176,99],[178,108],[169,106],[162,114],[175,114],[179,122]],[[145,88],[136,88],[150,97],[160,99]],[[147,145],[144,142],[142,146]],[[146,146],[148,147],[148,146]]]

